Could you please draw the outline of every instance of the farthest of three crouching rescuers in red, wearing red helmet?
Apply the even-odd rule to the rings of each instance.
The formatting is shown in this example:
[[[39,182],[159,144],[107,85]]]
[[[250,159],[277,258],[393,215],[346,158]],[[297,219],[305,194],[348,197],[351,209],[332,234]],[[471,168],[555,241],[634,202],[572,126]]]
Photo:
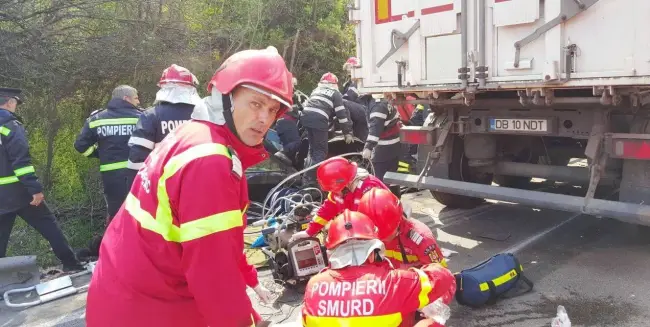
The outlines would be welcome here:
[[[307,230],[293,234],[290,242],[312,237],[345,209],[356,210],[364,193],[373,188],[388,189],[377,177],[367,170],[358,168],[355,162],[335,157],[325,161],[316,172],[318,184],[327,199],[318,209]]]

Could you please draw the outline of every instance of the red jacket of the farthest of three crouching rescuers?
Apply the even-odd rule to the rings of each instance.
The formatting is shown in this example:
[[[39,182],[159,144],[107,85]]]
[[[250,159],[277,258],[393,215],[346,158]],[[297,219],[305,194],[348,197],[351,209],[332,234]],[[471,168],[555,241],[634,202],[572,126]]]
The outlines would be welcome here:
[[[323,205],[318,209],[318,212],[316,212],[316,216],[314,216],[312,221],[309,222],[307,234],[309,236],[318,234],[318,232],[320,232],[320,230],[323,229],[330,220],[334,219],[345,209],[357,210],[361,197],[374,187],[379,187],[385,190],[388,189],[388,187],[377,177],[368,175],[360,184],[358,184],[357,187],[354,188],[354,190],[345,195],[330,192],[327,195],[327,199],[323,202]]]

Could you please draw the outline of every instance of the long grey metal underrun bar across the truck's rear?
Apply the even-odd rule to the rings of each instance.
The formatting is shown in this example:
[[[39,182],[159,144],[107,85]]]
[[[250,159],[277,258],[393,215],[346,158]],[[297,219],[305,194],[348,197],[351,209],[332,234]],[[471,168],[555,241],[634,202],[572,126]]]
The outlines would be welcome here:
[[[514,202],[539,208],[581,212],[588,215],[614,218],[626,223],[650,226],[650,206],[647,205],[600,199],[591,199],[585,203],[585,198],[578,196],[459,182],[434,177],[424,177],[418,185],[417,175],[394,172],[386,173],[384,180],[386,183],[426,188],[438,192]]]

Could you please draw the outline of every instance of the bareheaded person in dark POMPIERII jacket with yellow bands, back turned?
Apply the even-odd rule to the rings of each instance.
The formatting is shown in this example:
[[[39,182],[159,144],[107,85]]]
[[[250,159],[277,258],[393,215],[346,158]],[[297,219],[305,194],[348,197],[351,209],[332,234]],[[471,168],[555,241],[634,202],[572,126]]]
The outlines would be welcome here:
[[[99,158],[108,221],[117,214],[131,189],[128,142],[142,113],[139,104],[136,89],[128,85],[116,87],[106,109],[90,114],[74,142],[79,153]]]

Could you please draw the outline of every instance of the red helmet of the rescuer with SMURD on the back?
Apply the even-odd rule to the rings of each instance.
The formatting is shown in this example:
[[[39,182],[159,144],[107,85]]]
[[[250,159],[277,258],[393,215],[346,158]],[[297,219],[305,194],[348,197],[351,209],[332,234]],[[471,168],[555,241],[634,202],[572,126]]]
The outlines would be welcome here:
[[[325,247],[331,250],[347,240],[375,240],[377,227],[368,216],[345,209],[330,223]]]

